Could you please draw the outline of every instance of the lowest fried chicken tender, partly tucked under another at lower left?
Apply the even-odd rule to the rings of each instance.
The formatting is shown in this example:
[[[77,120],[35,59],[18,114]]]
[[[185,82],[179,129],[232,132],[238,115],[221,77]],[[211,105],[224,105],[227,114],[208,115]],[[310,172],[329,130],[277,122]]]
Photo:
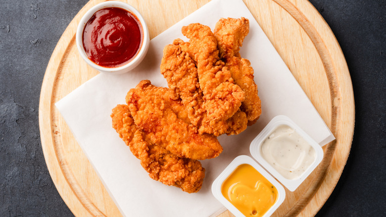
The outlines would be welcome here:
[[[123,139],[150,178],[165,185],[173,185],[188,193],[198,192],[205,169],[197,160],[180,158],[155,145],[134,123],[129,107],[118,105],[112,109],[112,126]]]

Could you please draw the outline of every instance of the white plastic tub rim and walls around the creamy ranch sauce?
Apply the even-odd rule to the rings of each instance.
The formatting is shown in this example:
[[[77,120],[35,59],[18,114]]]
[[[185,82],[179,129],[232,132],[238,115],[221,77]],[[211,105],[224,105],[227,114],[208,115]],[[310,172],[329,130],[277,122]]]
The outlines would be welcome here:
[[[314,162],[296,179],[287,179],[280,174],[270,163],[268,163],[261,155],[261,145],[263,141],[279,126],[288,125],[294,129],[305,141],[315,150]],[[323,160],[323,149],[315,142],[307,133],[305,133],[296,123],[294,123],[286,115],[278,115],[272,118],[272,120],[264,127],[264,129],[252,140],[249,146],[250,154],[256,161],[262,165],[269,173],[277,178],[288,190],[294,191],[297,187],[311,174],[311,172],[319,165]]]

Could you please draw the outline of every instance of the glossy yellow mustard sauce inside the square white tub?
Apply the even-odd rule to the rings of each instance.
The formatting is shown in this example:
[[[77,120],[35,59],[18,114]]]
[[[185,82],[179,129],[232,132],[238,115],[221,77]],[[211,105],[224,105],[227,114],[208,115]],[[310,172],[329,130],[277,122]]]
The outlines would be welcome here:
[[[263,216],[278,199],[278,190],[253,166],[239,165],[221,186],[224,197],[246,217]]]

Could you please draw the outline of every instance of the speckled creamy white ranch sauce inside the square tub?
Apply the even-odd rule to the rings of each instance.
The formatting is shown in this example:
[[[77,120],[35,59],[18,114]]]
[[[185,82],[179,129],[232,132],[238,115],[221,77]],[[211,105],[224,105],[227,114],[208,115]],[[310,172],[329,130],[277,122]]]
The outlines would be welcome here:
[[[276,128],[261,145],[262,157],[287,179],[296,179],[315,161],[314,148],[288,125]]]

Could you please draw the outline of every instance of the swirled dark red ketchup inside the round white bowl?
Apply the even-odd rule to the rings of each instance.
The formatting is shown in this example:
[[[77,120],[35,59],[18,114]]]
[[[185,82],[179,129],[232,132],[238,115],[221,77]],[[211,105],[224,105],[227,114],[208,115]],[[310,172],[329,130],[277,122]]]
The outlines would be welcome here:
[[[98,10],[83,30],[83,47],[90,60],[115,68],[130,62],[142,44],[142,25],[131,12],[109,7]]]

